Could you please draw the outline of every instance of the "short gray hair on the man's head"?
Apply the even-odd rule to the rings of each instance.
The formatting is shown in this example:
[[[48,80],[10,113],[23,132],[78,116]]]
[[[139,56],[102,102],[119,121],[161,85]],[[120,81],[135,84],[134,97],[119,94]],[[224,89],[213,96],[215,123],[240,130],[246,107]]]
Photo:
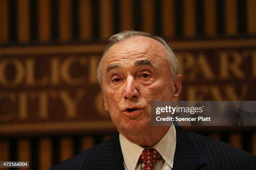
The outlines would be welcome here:
[[[136,37],[136,36],[149,37],[149,38],[152,38],[154,40],[157,40],[162,45],[164,45],[164,47],[166,49],[166,56],[164,56],[164,57],[166,57],[166,59],[170,62],[170,65],[171,65],[170,72],[171,72],[172,80],[178,74],[178,72],[179,72],[179,62],[177,60],[177,57],[175,56],[174,51],[172,50],[172,48],[169,47],[169,45],[165,42],[165,40],[163,38],[157,37],[157,36],[154,36],[154,35],[150,35],[147,32],[126,30],[126,31],[122,31],[122,32],[119,32],[119,33],[113,35],[108,40],[109,43],[108,43],[107,47],[105,48],[105,50],[102,54],[102,57],[100,59],[100,62],[99,62],[98,68],[97,68],[97,78],[98,78],[98,82],[100,84],[100,87],[102,87],[102,77],[101,77],[102,60],[103,60],[106,52],[108,52],[110,47],[112,47],[115,43],[120,42],[122,40],[125,40],[129,37]]]

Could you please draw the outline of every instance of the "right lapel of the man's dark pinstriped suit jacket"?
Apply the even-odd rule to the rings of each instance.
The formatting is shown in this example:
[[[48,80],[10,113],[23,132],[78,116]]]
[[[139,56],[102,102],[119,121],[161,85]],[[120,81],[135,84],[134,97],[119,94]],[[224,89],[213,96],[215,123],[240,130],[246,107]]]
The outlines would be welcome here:
[[[195,170],[205,163],[205,158],[192,137],[181,127],[175,126],[177,141],[174,154],[174,170]]]

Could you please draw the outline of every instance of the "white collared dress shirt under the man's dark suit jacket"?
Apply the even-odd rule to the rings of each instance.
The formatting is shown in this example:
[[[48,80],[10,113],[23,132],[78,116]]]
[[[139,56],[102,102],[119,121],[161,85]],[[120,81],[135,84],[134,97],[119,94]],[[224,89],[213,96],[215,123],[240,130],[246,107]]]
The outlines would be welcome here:
[[[121,134],[119,134],[119,140],[125,170],[142,170],[144,164],[138,160],[145,148],[131,143]],[[169,128],[164,137],[152,148],[155,148],[161,155],[161,159],[154,164],[154,170],[172,170],[176,148],[176,130],[174,125]]]

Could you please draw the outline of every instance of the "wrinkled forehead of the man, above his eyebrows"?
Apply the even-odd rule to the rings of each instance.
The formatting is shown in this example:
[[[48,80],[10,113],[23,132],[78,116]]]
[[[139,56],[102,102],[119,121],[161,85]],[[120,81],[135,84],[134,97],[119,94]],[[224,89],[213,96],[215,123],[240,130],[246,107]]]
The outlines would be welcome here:
[[[131,61],[141,57],[146,57],[154,62],[154,60],[164,59],[163,55],[166,55],[166,49],[160,42],[149,37],[136,36],[129,37],[110,47],[103,58],[103,63],[108,65],[113,61],[125,59]]]

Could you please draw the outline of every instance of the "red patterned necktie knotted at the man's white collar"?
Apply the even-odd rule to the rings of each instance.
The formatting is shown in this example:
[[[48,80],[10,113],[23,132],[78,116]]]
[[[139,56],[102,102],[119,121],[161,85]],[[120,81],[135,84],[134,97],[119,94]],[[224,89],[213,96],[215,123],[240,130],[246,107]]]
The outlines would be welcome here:
[[[154,170],[154,163],[159,160],[160,154],[155,148],[146,148],[142,151],[140,160],[144,163],[142,170]]]

